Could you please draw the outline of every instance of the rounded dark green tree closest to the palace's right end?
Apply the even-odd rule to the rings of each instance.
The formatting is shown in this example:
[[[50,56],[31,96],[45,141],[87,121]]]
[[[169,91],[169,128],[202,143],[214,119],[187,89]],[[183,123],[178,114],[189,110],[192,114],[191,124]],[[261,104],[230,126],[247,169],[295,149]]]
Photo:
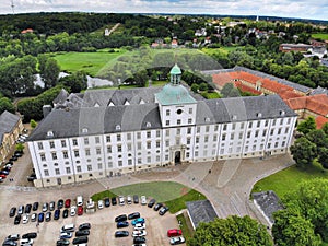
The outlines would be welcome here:
[[[307,138],[301,137],[291,147],[291,153],[297,166],[311,165],[316,157],[316,145]]]

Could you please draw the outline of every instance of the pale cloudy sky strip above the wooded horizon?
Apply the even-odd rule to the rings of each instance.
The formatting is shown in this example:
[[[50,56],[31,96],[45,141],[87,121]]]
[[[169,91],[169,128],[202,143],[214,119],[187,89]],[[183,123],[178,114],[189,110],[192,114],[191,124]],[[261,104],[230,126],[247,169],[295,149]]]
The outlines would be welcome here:
[[[0,13],[112,12],[249,14],[328,21],[328,0],[0,0]]]

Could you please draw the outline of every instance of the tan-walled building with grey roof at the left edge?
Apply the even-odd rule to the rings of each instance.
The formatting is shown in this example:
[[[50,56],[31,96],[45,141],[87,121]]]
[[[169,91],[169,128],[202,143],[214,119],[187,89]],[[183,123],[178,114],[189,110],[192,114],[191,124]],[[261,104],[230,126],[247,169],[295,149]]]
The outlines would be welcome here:
[[[21,117],[9,112],[0,115],[0,163],[14,150],[15,141],[23,131]]]

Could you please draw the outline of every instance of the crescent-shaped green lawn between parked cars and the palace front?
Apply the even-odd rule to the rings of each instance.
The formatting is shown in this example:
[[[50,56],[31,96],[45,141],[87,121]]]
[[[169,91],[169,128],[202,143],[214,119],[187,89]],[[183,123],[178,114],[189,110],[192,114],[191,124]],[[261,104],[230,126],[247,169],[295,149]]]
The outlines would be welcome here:
[[[172,213],[186,208],[186,201],[207,199],[202,194],[174,181],[152,181],[136,185],[122,186],[119,188],[102,191],[92,196],[97,201],[105,197],[127,195],[144,195],[148,198],[155,198],[157,202],[164,202],[169,207]]]

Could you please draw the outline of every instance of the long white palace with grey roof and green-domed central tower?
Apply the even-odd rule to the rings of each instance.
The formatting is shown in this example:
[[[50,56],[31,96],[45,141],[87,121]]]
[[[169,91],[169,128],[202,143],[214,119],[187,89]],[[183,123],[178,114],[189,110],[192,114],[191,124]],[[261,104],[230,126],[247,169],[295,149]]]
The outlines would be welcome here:
[[[36,187],[288,151],[297,115],[278,95],[203,99],[180,75],[176,65],[163,87],[62,90],[28,138]]]

